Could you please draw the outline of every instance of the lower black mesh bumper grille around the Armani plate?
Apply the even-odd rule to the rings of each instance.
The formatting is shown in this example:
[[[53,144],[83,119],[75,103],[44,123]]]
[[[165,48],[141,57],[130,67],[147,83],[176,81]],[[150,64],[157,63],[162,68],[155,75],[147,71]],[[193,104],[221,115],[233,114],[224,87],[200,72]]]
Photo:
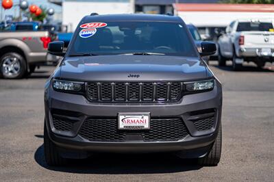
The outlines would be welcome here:
[[[126,142],[127,134],[141,135],[145,142],[177,141],[188,135],[182,119],[179,118],[151,119],[150,127],[149,130],[121,131],[116,119],[88,118],[79,135],[91,142]]]

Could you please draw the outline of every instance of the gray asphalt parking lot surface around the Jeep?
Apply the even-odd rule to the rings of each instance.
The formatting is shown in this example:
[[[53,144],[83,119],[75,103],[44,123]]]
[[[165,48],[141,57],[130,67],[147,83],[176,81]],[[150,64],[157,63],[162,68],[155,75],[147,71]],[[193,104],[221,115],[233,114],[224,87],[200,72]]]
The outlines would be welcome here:
[[[167,154],[101,154],[49,167],[43,152],[43,91],[53,67],[27,79],[0,79],[0,181],[273,181],[274,70],[210,68],[223,83],[219,166]]]

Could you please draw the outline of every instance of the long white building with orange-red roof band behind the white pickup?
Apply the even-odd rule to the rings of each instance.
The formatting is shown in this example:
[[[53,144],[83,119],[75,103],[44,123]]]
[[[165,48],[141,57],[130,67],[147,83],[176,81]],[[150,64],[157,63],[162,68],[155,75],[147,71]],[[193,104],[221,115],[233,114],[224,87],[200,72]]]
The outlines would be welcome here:
[[[236,19],[274,19],[273,4],[175,3],[173,8],[177,16],[210,40],[216,40],[215,28],[223,30]]]

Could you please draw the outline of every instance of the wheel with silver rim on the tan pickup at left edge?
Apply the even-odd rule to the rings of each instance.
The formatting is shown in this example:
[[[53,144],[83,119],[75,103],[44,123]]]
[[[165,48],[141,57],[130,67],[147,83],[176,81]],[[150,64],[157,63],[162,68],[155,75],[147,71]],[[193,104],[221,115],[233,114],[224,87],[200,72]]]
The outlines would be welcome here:
[[[27,63],[18,53],[5,53],[0,58],[0,77],[5,79],[21,79],[27,72]]]

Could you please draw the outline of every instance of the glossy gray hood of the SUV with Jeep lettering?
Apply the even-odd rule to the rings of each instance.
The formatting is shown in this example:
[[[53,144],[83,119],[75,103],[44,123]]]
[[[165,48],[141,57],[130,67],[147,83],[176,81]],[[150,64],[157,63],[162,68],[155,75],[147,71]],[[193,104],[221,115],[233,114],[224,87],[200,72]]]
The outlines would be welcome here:
[[[187,81],[208,75],[198,57],[168,55],[66,57],[59,71],[62,79],[81,81]]]

